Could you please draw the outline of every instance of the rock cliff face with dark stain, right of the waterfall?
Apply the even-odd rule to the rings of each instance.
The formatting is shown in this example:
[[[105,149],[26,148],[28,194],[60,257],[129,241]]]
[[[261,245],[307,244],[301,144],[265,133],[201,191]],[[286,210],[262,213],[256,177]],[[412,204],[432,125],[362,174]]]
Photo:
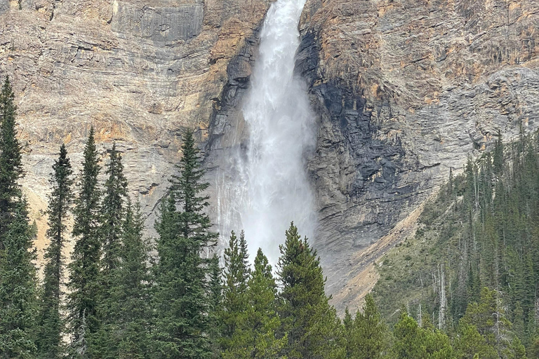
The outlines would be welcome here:
[[[450,168],[538,125],[538,26],[533,0],[307,0],[296,67],[319,115],[317,248],[340,309],[373,243]]]

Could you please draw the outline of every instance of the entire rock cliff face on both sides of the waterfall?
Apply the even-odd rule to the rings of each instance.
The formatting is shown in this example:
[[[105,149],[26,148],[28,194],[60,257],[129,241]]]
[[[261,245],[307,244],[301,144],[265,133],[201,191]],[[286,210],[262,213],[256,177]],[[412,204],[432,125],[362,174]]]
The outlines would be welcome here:
[[[113,141],[124,151],[147,213],[182,128],[201,129],[213,180],[241,145],[241,100],[269,4],[0,0],[0,76],[14,78],[41,236],[58,144],[78,164],[90,126],[103,154]],[[357,305],[373,261],[413,230],[450,168],[498,131],[510,139],[537,126],[538,28],[535,0],[307,0],[296,70],[318,116],[308,165],[316,246],[339,309]]]

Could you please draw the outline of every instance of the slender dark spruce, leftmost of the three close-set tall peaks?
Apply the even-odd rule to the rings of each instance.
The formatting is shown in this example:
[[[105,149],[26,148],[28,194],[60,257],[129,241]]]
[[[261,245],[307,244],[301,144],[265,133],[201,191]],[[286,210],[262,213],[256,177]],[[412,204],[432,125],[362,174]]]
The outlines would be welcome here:
[[[65,145],[60,147],[60,156],[53,164],[51,186],[48,196],[47,237],[51,241],[45,252],[44,287],[39,309],[39,330],[36,339],[38,358],[62,358],[62,335],[65,333],[61,315],[62,285],[64,278],[66,221],[72,204],[72,168]]]

